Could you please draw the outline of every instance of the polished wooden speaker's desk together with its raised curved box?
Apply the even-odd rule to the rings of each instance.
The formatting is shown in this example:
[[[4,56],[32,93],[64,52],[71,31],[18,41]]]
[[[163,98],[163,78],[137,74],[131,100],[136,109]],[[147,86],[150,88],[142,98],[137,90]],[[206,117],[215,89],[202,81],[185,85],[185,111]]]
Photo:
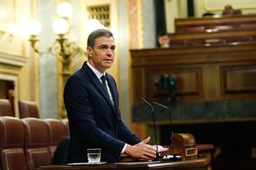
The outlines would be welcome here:
[[[109,169],[109,170],[207,170],[209,159],[197,159],[197,147],[195,138],[192,134],[172,134],[171,144],[168,151],[160,152],[160,156],[181,155],[181,161],[162,162],[144,161],[144,162],[121,162],[115,164],[60,164],[41,166],[37,170],[87,170],[87,169]]]

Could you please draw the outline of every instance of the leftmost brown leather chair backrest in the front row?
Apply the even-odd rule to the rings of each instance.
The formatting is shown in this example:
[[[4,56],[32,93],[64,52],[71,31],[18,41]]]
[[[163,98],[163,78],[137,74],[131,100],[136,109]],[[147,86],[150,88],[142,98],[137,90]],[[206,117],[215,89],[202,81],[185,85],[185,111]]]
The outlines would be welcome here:
[[[24,152],[24,125],[17,117],[0,117],[3,170],[28,170]]]

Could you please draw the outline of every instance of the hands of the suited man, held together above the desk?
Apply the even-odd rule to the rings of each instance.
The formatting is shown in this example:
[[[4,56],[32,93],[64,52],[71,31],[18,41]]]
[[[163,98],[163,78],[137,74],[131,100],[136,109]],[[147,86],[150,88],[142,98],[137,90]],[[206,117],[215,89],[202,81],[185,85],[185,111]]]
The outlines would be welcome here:
[[[127,154],[135,159],[153,160],[156,158],[156,149],[155,147],[147,144],[148,142],[150,142],[150,137],[145,138],[143,141],[137,143],[136,145],[128,145],[124,151],[124,154]]]

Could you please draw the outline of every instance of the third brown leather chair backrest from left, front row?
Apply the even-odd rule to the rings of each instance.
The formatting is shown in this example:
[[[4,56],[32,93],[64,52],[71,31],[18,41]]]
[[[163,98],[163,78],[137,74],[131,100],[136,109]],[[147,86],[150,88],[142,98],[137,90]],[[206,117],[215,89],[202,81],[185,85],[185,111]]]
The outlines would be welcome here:
[[[59,119],[45,119],[45,121],[48,127],[48,133],[50,134],[50,152],[53,156],[59,142],[67,136],[66,125]]]

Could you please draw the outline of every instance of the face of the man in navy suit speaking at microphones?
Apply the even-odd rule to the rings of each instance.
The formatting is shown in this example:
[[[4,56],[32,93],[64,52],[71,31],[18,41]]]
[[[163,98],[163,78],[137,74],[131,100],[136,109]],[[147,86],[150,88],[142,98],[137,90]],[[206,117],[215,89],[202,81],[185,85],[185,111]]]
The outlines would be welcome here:
[[[115,57],[115,40],[113,37],[101,36],[95,40],[93,49],[87,47],[89,63],[102,74],[111,68]]]

